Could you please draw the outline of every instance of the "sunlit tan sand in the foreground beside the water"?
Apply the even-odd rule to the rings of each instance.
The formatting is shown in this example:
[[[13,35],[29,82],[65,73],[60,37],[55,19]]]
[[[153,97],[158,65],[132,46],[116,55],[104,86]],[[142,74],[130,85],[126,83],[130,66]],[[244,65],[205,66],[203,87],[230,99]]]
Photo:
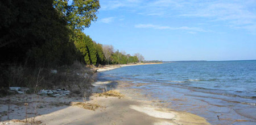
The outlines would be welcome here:
[[[64,100],[64,98],[62,98]],[[77,100],[76,100],[77,101]],[[42,124],[209,124],[200,116],[152,107],[129,97],[95,97],[89,103],[102,107],[96,111],[76,106],[44,107],[35,120]],[[15,110],[15,109],[12,109]],[[14,114],[12,118],[18,118]],[[24,111],[23,113],[25,114]],[[19,117],[22,118],[22,117]],[[3,123],[24,124],[4,121]]]

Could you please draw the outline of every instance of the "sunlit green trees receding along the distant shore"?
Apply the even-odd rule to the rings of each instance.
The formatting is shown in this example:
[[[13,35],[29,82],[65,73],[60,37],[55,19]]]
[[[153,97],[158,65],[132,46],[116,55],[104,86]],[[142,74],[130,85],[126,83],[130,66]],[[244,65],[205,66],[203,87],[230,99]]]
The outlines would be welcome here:
[[[81,53],[82,61],[89,65],[129,64],[139,62],[137,56],[126,55],[126,52],[114,52],[112,45],[102,45],[93,41],[90,36],[80,32],[75,46]]]

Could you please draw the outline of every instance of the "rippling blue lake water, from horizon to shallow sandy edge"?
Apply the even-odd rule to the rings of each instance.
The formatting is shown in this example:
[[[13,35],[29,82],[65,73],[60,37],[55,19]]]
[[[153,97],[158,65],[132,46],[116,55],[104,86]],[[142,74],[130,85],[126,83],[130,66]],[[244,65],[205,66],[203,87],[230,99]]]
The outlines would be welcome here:
[[[152,99],[171,102],[167,107],[203,116],[212,124],[256,124],[255,60],[127,66],[102,72],[99,80],[148,83],[135,88]]]

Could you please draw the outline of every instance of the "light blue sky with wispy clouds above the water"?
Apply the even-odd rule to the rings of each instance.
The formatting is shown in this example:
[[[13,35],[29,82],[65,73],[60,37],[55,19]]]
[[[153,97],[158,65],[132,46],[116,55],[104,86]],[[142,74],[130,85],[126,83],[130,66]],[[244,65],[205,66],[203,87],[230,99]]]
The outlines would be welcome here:
[[[94,41],[145,60],[255,60],[256,0],[100,0]]]

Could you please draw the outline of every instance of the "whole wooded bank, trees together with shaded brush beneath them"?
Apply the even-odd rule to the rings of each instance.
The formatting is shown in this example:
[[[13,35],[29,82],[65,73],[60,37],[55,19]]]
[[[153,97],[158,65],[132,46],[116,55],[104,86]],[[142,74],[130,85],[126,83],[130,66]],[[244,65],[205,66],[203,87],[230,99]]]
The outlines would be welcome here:
[[[137,56],[114,52],[82,32],[97,20],[98,9],[98,0],[0,1],[0,96],[3,87],[35,88],[39,82],[42,89],[88,84],[92,78],[73,75],[85,72],[83,64],[138,62]]]

